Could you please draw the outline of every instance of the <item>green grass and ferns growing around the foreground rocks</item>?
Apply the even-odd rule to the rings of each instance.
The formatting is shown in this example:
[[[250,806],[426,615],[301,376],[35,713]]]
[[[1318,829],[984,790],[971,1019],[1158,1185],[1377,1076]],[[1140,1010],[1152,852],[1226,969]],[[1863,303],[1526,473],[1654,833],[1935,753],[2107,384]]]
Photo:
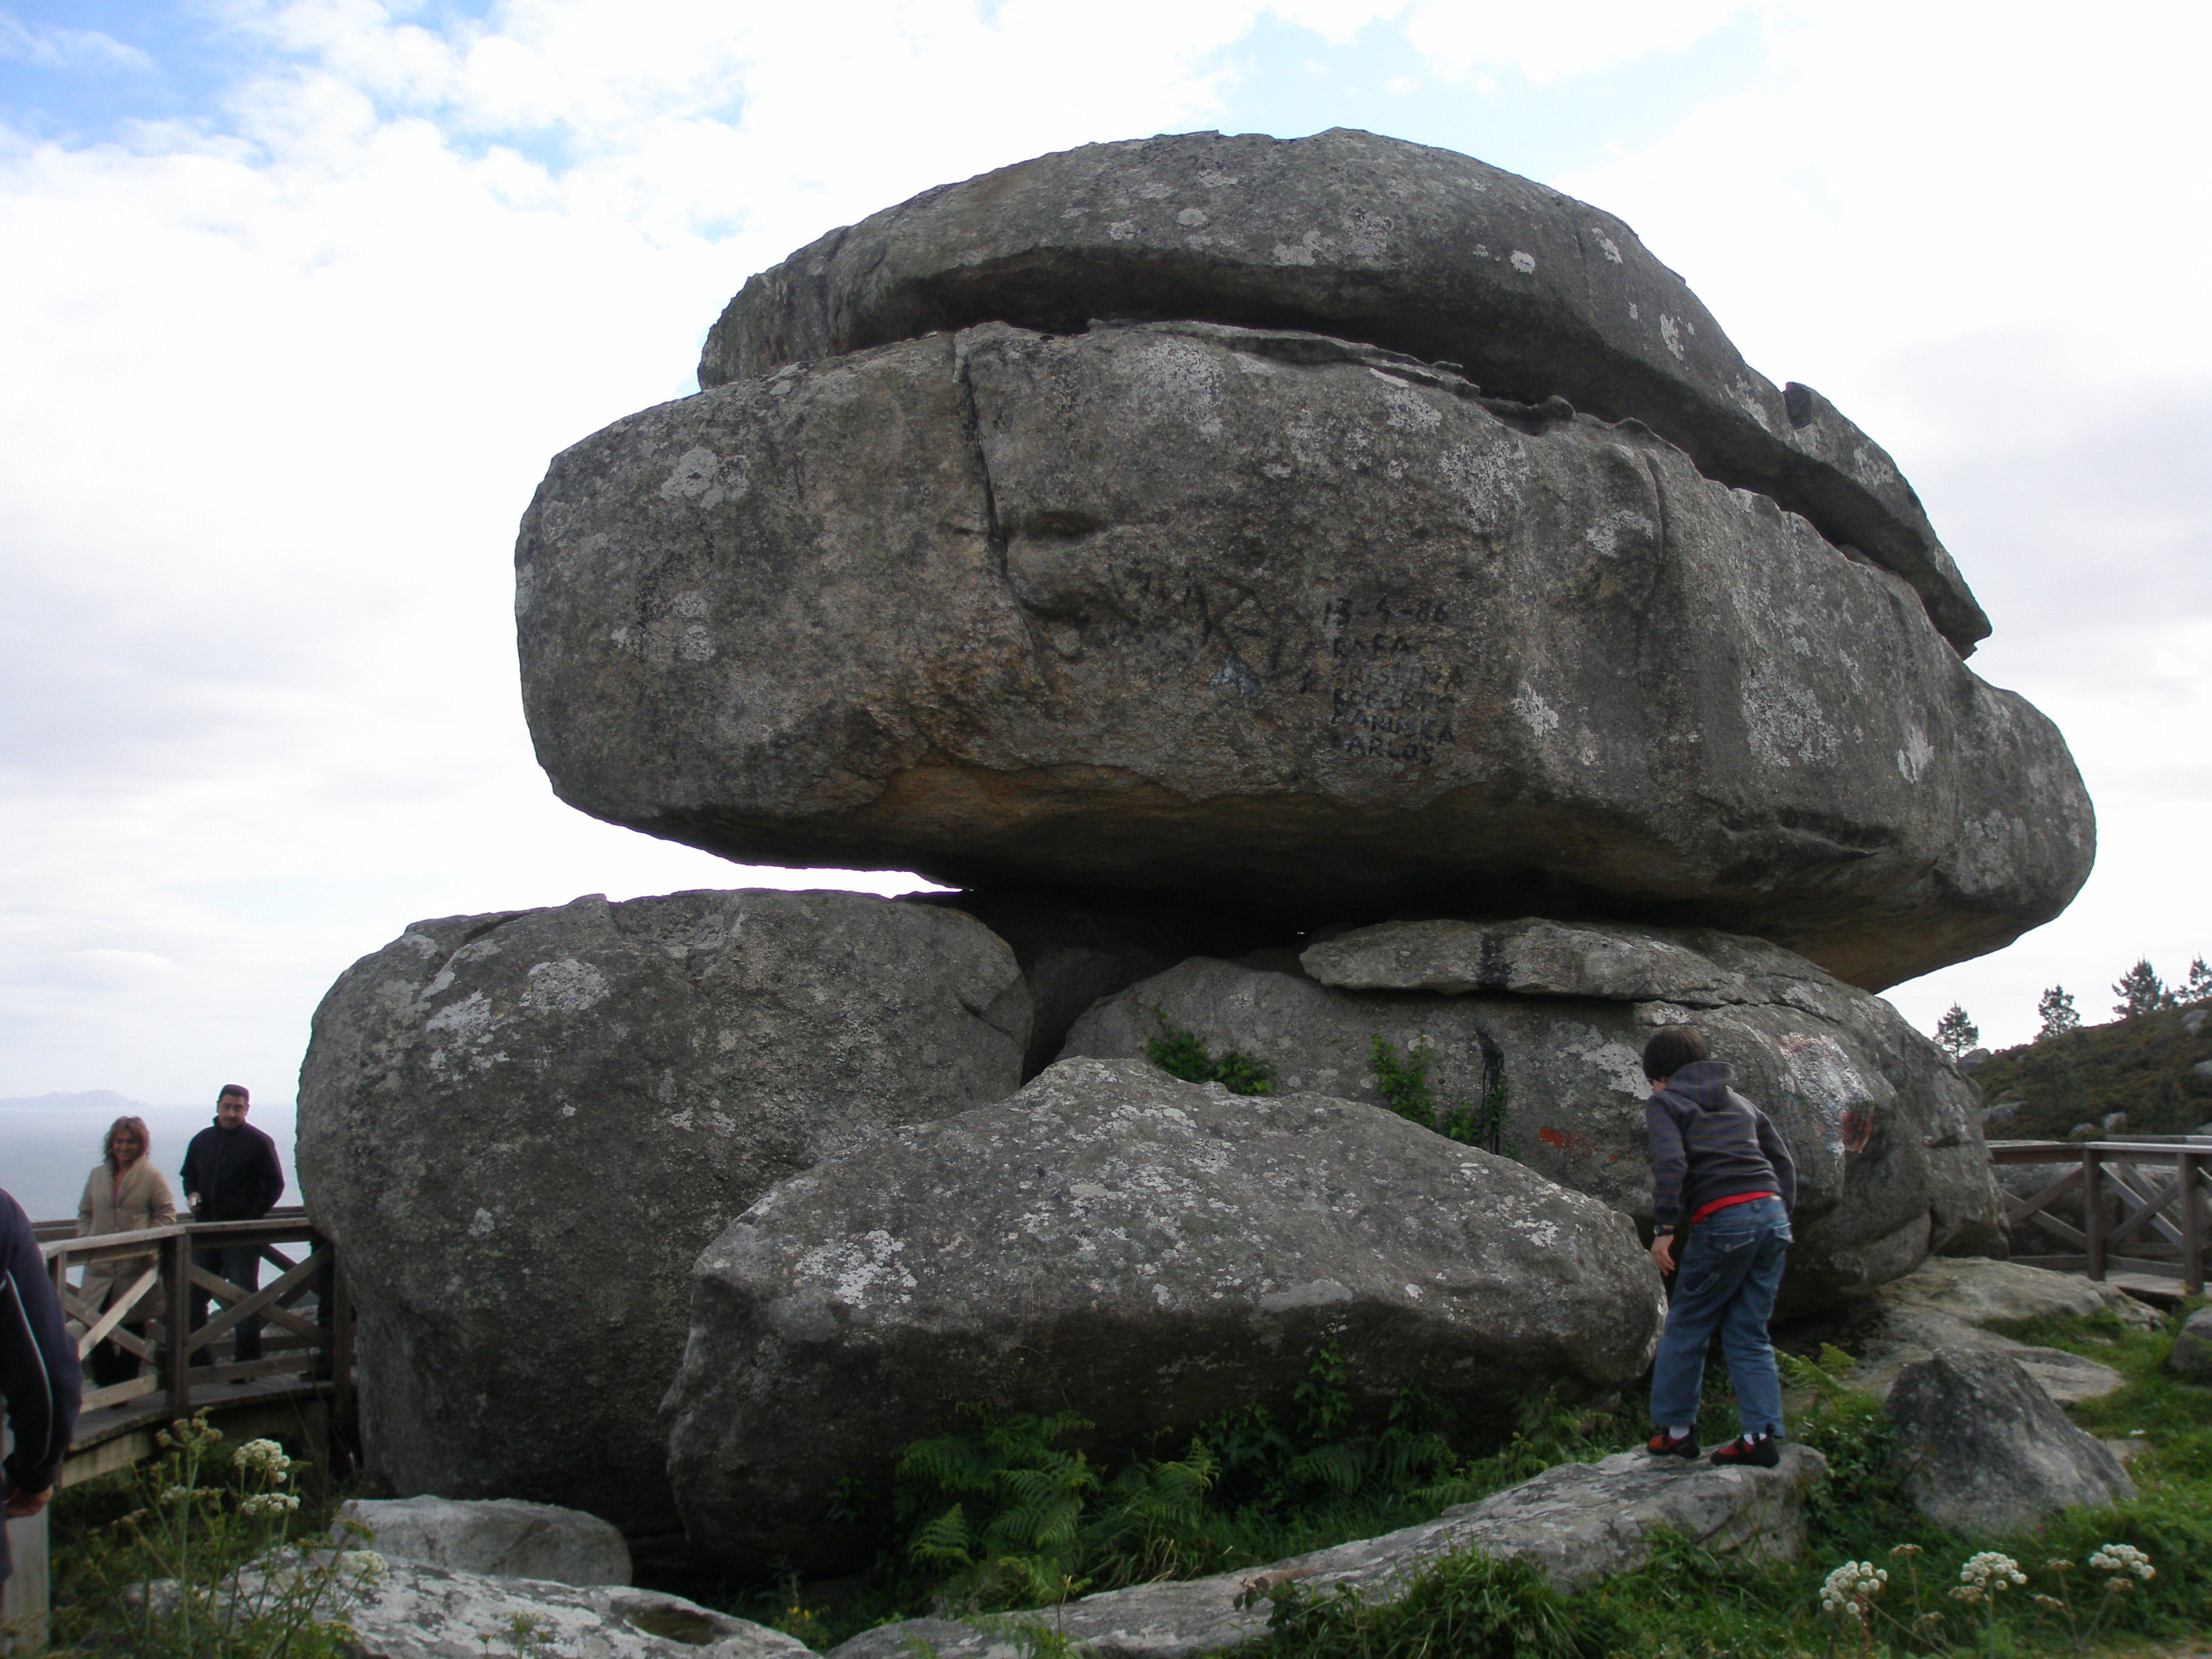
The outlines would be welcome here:
[[[2130,1464],[2139,1489],[2132,1502],[2062,1513],[2042,1535],[1969,1542],[1922,1517],[1898,1482],[1887,1416],[1871,1396],[1836,1383],[1847,1360],[1829,1352],[1820,1363],[1785,1360],[1792,1383],[1809,1387],[1816,1400],[1792,1422],[1792,1433],[1820,1451],[1832,1469],[1807,1506],[1803,1562],[1745,1564],[1661,1537],[1652,1559],[1637,1573],[1562,1597],[1524,1566],[1458,1555],[1438,1562],[1402,1597],[1385,1604],[1281,1588],[1272,1597],[1270,1637],[1239,1652],[1250,1659],[2064,1655],[2075,1650],[2075,1635],[2088,1628],[2090,1613],[2104,1597],[2108,1575],[2086,1566],[2104,1544],[2146,1551],[2157,1577],[2130,1582],[2132,1588],[2112,1599],[2095,1632],[2099,1652],[2112,1644],[2201,1637],[2212,1628],[2212,1389],[2181,1383],[2163,1369],[2177,1323],[2135,1332],[2099,1316],[2039,1321],[2015,1332],[2119,1369],[2128,1378],[2126,1387],[2075,1407],[2073,1416],[2081,1427],[2110,1438],[2141,1429],[2146,1442],[2146,1451]],[[1316,1365],[1323,1385],[1325,1371],[1325,1363]],[[1332,1400],[1310,1396],[1307,1407],[1321,1413],[1316,1425],[1329,1420]],[[1365,1493],[1290,1480],[1290,1455],[1296,1453],[1252,1453],[1259,1464],[1245,1469],[1243,1486],[1232,1486],[1217,1473],[1188,1535],[1190,1553],[1181,1571],[1170,1575],[1256,1566],[1405,1526],[1436,1513],[1447,1500],[1464,1502],[1467,1495],[1526,1480],[1555,1462],[1604,1455],[1635,1444],[1641,1433],[1641,1413],[1632,1407],[1559,1411],[1533,1405],[1502,1444],[1480,1458],[1453,1462],[1449,1482],[1427,1489],[1369,1482]],[[1734,1411],[1714,1380],[1699,1418],[1699,1438],[1717,1442],[1730,1433]],[[1223,1444],[1230,1442],[1219,1427],[1217,1436]],[[1225,1462],[1219,1453],[1212,1455]],[[1267,1480],[1256,1469],[1274,1471],[1272,1502],[1265,1500]],[[1949,1595],[1964,1562],[1984,1548],[2015,1557],[2028,1575],[2026,1586],[1997,1597],[1995,1619],[1986,1604],[1971,1606]],[[1082,1575],[1066,1575],[1062,1588],[1082,1595],[1115,1582],[1139,1582],[1159,1566],[1152,1557],[1139,1568],[1139,1553],[1130,1537],[1106,1542],[1099,1553],[1082,1559]],[[1823,1579],[1854,1559],[1889,1573],[1889,1584],[1874,1601],[1880,1613],[1865,1648],[1856,1626],[1820,1613]],[[2051,1562],[2073,1566],[2062,1571]],[[792,1584],[783,1595],[754,1590],[737,1595],[730,1606],[792,1630],[816,1648],[830,1648],[891,1617],[931,1610],[989,1617],[989,1595],[978,1595],[973,1579],[967,1582],[964,1601],[960,1595],[945,1597],[949,1584],[949,1575],[916,1575],[911,1564],[900,1568],[885,1559],[869,1579]],[[2037,1595],[2070,1597],[2075,1626],[2068,1628],[2062,1610],[2037,1606]],[[1031,1606],[1048,1599],[1057,1597],[1037,1597]],[[1040,1657],[1051,1659],[1048,1632],[1035,1637],[1035,1644]]]

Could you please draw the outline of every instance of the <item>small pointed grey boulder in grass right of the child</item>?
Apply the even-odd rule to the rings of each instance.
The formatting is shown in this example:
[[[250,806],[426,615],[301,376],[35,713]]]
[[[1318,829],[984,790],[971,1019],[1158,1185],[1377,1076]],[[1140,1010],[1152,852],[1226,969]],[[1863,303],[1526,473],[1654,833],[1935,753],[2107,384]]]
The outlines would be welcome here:
[[[1889,1389],[1905,1489],[1938,1526],[1995,1537],[2059,1509],[2135,1498],[2112,1451],[2081,1433],[2006,1354],[1947,1349]]]

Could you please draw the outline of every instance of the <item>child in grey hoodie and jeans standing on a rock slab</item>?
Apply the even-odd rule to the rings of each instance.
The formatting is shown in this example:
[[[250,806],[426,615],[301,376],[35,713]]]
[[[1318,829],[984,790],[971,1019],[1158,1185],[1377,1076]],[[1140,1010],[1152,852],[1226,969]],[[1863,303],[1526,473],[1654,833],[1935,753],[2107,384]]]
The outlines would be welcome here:
[[[1767,1115],[1728,1086],[1730,1071],[1712,1060],[1694,1026],[1663,1026],[1644,1044],[1652,1084],[1644,1126],[1652,1148],[1652,1261],[1681,1272],[1668,1301],[1666,1329],[1652,1360],[1648,1451],[1694,1458],[1697,1400],[1705,1380],[1705,1347],[1721,1334],[1728,1380],[1736,1389],[1741,1433],[1712,1453],[1721,1464],[1781,1462],[1783,1385],[1774,1369],[1767,1321],[1790,1250],[1796,1208],[1796,1164]]]

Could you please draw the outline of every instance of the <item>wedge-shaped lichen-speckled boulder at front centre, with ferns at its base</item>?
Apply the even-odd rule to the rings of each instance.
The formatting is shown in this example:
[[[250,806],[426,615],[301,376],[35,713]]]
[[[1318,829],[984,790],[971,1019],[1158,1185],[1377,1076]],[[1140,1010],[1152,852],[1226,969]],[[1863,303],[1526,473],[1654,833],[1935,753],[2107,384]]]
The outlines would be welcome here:
[[[1115,1458],[1290,1418],[1334,1336],[1363,1407],[1418,1385],[1480,1420],[1632,1383],[1659,1329],[1635,1228],[1579,1192],[1376,1106],[1099,1060],[785,1181],[692,1283],[668,1473],[690,1540],[752,1566],[841,1564],[838,1482],[962,1402],[1073,1409]]]

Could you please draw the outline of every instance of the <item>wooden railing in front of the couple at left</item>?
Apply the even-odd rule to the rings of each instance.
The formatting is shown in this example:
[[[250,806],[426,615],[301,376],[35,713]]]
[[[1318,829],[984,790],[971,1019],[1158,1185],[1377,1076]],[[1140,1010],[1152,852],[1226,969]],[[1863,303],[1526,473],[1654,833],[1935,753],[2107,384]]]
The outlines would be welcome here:
[[[139,1376],[102,1389],[86,1389],[80,1411],[131,1405],[164,1394],[161,1413],[192,1413],[192,1391],[217,1383],[259,1378],[303,1378],[323,1383],[341,1398],[354,1374],[354,1310],[338,1272],[336,1250],[314,1230],[305,1210],[274,1210],[261,1221],[186,1221],[144,1232],[106,1232],[88,1239],[64,1232],[69,1223],[38,1228],[62,1312],[84,1334],[77,1354],[91,1356],[113,1343],[139,1360]],[[252,1248],[261,1263],[257,1290],[223,1279],[195,1261],[195,1252]],[[153,1256],[153,1265],[128,1274],[111,1307],[86,1301],[71,1276],[80,1267]],[[268,1276],[274,1267],[274,1279]],[[208,1316],[192,1329],[192,1292],[208,1294]],[[217,1347],[230,1347],[239,1327],[261,1321],[261,1358],[217,1365]],[[221,1398],[201,1405],[221,1405]],[[148,1405],[153,1405],[148,1400]]]

